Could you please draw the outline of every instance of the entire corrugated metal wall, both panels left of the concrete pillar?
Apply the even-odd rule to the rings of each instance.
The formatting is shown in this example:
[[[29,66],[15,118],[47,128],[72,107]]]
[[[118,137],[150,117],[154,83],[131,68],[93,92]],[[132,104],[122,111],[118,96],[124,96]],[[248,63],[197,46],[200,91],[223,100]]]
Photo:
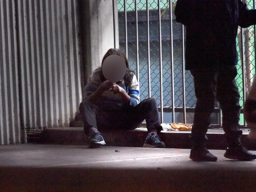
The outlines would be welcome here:
[[[0,144],[69,126],[82,100],[78,0],[0,0],[0,17]]]

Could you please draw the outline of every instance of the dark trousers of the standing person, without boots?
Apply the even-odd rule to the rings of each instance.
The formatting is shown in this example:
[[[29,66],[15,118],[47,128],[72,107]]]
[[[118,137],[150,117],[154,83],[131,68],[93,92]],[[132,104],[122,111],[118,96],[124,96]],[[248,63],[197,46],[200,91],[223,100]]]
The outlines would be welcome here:
[[[222,110],[223,129],[228,142],[241,137],[239,130],[239,91],[235,77],[236,66],[220,68],[193,69],[195,94],[197,103],[195,107],[194,123],[192,127],[192,140],[200,141],[206,138],[210,115],[214,110],[215,98]]]

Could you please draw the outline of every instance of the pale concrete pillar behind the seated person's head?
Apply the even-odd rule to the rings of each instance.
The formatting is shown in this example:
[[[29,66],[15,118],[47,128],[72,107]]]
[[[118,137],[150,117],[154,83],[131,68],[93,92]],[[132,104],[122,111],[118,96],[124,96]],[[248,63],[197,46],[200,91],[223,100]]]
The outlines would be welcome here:
[[[114,17],[115,39],[118,41],[118,10],[117,0],[82,0],[82,50],[83,50],[83,79],[86,84],[91,72],[101,66],[103,55],[109,48],[114,48]]]

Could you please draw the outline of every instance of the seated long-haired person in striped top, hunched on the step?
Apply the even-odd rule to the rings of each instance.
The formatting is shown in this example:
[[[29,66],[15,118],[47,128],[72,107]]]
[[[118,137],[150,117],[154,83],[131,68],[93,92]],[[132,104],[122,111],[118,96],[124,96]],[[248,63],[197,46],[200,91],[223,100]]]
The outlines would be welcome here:
[[[158,108],[154,98],[139,103],[139,83],[134,72],[129,69],[124,52],[109,49],[102,63],[109,55],[119,55],[126,63],[124,78],[115,83],[106,80],[102,68],[91,74],[85,87],[85,97],[80,103],[84,132],[89,136],[89,148],[105,145],[99,131],[110,129],[135,129],[146,120],[148,135],[144,147],[165,148],[158,137],[163,128],[158,117]]]

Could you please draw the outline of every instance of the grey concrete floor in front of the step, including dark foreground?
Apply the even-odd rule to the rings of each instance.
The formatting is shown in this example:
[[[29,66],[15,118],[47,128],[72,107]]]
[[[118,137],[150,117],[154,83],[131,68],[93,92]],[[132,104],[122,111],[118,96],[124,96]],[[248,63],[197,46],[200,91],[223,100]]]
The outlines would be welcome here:
[[[210,150],[217,162],[193,162],[189,151],[0,146],[0,191],[256,191],[256,161],[233,161],[223,150]]]

